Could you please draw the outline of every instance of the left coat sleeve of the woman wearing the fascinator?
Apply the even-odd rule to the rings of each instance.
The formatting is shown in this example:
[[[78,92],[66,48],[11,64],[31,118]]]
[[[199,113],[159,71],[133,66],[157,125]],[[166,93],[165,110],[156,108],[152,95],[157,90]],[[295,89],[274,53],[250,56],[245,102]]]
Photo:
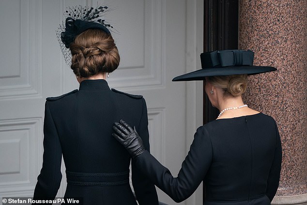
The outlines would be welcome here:
[[[61,184],[61,144],[49,109],[45,105],[44,156],[41,173],[37,177],[33,199],[54,199]]]

